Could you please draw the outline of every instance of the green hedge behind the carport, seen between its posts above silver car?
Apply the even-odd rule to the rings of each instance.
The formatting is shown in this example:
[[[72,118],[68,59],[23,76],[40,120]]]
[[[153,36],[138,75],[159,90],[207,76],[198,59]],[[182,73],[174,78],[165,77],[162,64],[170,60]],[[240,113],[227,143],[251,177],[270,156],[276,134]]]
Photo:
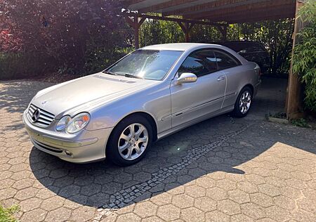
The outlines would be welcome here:
[[[270,74],[287,74],[292,48],[293,20],[275,20],[244,24],[231,24],[227,39],[260,41],[270,54]],[[140,46],[184,41],[184,34],[176,22],[146,20],[140,27]],[[195,25],[190,32],[190,41],[213,43],[222,41],[216,27]]]

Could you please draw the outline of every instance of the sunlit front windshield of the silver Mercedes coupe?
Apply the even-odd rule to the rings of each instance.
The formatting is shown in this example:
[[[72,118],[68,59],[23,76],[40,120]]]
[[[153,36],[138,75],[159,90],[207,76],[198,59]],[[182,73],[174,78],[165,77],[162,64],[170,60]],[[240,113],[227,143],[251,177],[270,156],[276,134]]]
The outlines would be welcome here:
[[[182,53],[183,51],[140,49],[103,72],[140,79],[162,80]]]

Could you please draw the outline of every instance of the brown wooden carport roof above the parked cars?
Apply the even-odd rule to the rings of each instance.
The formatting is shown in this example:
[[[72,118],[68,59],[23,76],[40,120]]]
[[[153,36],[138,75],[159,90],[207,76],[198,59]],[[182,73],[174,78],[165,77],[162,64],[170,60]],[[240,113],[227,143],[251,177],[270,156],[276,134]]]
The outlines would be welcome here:
[[[138,13],[182,15],[185,19],[211,22],[257,22],[294,18],[295,0],[128,0],[125,8]]]

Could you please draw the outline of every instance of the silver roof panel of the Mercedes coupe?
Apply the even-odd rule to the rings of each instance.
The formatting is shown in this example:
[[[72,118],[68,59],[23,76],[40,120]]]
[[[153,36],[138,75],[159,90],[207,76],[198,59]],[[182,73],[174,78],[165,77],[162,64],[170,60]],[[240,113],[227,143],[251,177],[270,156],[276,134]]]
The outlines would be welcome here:
[[[173,51],[186,51],[190,48],[196,48],[199,46],[208,46],[208,47],[216,47],[219,45],[216,44],[203,44],[203,43],[171,43],[171,44],[158,44],[152,46],[145,46],[141,49],[145,50],[173,50]]]

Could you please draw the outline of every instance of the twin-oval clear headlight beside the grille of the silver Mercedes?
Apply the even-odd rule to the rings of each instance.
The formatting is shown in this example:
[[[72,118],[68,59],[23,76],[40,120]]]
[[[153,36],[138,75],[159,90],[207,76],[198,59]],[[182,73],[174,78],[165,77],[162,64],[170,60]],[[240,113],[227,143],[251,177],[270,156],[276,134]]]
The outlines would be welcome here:
[[[77,133],[81,129],[84,129],[84,126],[88,124],[89,120],[90,115],[88,114],[88,112],[79,113],[73,118],[71,118],[70,116],[65,116],[58,121],[56,125],[56,130],[66,130],[67,133]]]

